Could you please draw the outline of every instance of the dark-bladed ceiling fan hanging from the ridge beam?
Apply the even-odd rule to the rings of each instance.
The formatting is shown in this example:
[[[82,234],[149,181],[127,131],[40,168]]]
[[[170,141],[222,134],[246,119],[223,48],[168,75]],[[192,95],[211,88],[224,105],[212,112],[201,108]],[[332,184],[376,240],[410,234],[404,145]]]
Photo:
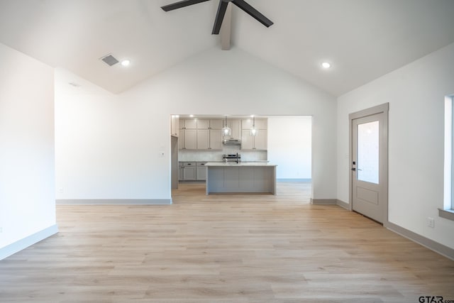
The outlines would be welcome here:
[[[161,6],[161,9],[163,9],[164,11],[173,11],[174,9],[181,9],[182,7],[190,6],[193,4],[199,4],[199,3],[205,2],[205,1],[209,1],[209,0],[183,0],[183,1],[175,2],[174,4]],[[273,23],[270,19],[263,16],[262,13],[260,13],[260,11],[254,9],[253,6],[250,6],[244,0],[219,0],[218,12],[216,13],[216,19],[214,20],[213,31],[211,32],[212,34],[218,35],[219,31],[221,30],[221,25],[222,25],[224,15],[226,14],[228,2],[232,2],[233,4],[238,6],[240,9],[243,9],[243,11],[250,14],[250,16],[255,18],[255,20],[259,21],[267,28],[272,26]]]

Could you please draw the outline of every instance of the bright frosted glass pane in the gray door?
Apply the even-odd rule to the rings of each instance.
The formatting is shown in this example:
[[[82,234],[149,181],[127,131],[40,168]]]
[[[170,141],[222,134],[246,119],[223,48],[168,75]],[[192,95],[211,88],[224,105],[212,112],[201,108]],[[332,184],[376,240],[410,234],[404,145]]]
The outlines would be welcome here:
[[[358,124],[358,180],[378,184],[379,122]]]

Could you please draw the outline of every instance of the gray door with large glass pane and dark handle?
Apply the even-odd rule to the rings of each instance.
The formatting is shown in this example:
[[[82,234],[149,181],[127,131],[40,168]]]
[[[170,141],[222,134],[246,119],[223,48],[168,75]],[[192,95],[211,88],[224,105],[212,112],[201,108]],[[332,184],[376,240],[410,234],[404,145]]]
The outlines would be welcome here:
[[[387,221],[387,111],[358,117],[352,123],[352,209]]]

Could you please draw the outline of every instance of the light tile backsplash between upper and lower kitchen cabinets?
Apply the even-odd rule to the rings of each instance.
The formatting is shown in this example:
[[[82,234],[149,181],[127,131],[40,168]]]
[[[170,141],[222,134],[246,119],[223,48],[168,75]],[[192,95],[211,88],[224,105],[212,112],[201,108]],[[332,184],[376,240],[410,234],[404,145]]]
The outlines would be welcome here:
[[[178,150],[178,161],[222,161],[222,155],[239,153],[242,161],[267,160],[266,150],[240,150],[238,145],[223,145],[222,150]]]

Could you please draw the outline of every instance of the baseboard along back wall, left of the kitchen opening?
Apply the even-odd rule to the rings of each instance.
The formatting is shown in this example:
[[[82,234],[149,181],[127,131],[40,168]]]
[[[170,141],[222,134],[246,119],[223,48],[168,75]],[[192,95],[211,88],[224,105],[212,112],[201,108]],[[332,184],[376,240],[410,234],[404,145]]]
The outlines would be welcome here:
[[[169,205],[172,199],[57,199],[57,204]]]

